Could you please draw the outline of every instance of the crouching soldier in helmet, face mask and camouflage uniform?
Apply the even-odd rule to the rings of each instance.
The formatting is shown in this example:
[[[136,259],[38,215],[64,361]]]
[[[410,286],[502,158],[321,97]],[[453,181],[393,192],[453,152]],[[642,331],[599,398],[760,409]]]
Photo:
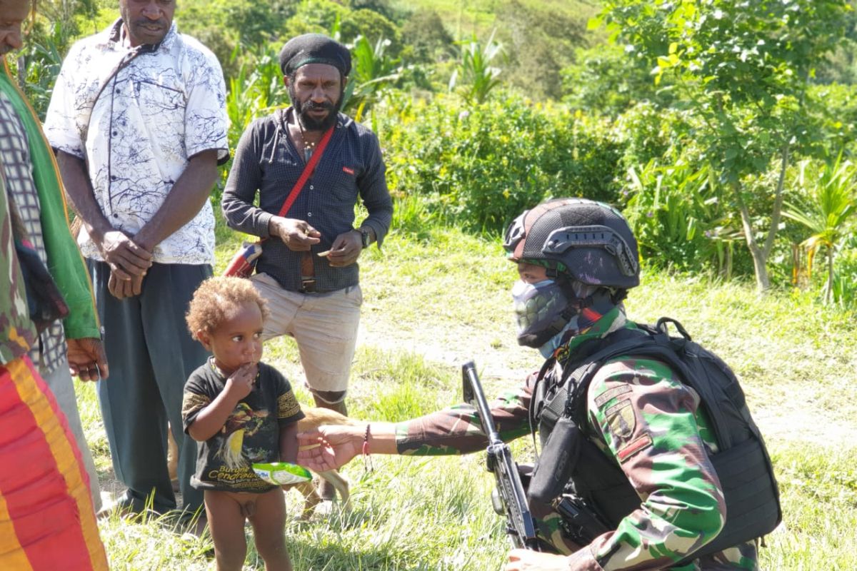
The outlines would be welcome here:
[[[551,379],[602,349],[604,337],[638,329],[626,318],[622,300],[639,283],[639,265],[626,220],[608,205],[584,199],[551,200],[525,211],[506,232],[504,247],[520,276],[512,288],[518,342],[538,348],[548,359],[542,367],[546,374],[530,375],[492,406],[500,436],[511,440],[529,432],[530,405],[535,411],[542,406],[545,392],[538,390],[539,381],[550,386]],[[726,504],[710,461],[718,449],[716,438],[699,404],[697,393],[660,361],[607,360],[586,391],[581,429],[596,454],[609,460],[606,464],[620,467],[638,507],[580,545],[550,505],[531,504],[537,534],[553,553],[512,550],[506,571],[679,568],[677,562],[716,538]],[[480,426],[476,411],[462,405],[398,424],[325,426],[298,435],[298,462],[326,470],[367,451],[438,455],[485,449],[481,428],[474,426]],[[572,473],[572,484],[578,485],[584,470],[590,472],[586,478],[601,476],[590,466]],[[593,508],[604,513],[611,506]],[[756,569],[756,544],[751,539],[683,563],[696,567],[682,569]]]

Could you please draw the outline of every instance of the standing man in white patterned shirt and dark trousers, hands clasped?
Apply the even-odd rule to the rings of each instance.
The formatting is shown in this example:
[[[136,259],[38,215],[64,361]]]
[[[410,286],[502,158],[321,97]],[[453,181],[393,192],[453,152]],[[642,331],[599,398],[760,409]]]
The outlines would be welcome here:
[[[208,195],[229,157],[219,62],[177,32],[175,0],[119,0],[120,19],[72,46],[51,97],[45,133],[82,220],[111,380],[99,401],[120,509],[176,507],[166,467],[170,422],[179,446],[183,508],[195,443],[182,432],[185,380],[207,358],[183,324],[211,276]]]

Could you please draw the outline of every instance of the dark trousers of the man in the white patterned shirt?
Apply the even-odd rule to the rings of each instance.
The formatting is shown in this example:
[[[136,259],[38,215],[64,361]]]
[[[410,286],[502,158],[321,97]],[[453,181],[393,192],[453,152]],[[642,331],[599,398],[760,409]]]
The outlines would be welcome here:
[[[107,289],[110,267],[93,260],[89,267],[110,363],[110,378],[99,381],[99,402],[113,470],[128,486],[120,502],[141,511],[154,492],[153,509],[176,508],[166,467],[169,421],[179,451],[183,509],[195,511],[202,491],[190,486],[196,443],[182,429],[182,396],[184,382],[208,354],[190,336],[184,314],[212,268],[154,264],[140,295],[117,300]]]

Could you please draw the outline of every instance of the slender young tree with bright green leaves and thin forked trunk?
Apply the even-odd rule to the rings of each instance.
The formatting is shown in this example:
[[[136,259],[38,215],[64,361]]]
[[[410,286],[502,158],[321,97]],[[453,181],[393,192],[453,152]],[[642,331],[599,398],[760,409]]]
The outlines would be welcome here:
[[[806,90],[842,37],[847,0],[605,0],[602,21],[650,62],[656,83],[674,82],[677,102],[700,118],[690,134],[740,211],[759,288],[779,227],[782,177],[767,212],[751,212],[743,182],[793,146],[812,143]],[[759,215],[767,235],[757,240]]]

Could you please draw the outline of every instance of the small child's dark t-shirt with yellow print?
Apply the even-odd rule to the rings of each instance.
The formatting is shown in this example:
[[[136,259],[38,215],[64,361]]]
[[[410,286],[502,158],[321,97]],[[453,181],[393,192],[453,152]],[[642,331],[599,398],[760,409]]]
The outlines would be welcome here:
[[[184,431],[196,415],[223,392],[226,379],[212,360],[196,369],[184,384]],[[279,461],[279,428],[303,419],[291,384],[279,371],[259,363],[253,390],[238,402],[225,425],[199,443],[196,473],[190,484],[203,490],[264,492],[276,486],[256,476],[251,464]]]

